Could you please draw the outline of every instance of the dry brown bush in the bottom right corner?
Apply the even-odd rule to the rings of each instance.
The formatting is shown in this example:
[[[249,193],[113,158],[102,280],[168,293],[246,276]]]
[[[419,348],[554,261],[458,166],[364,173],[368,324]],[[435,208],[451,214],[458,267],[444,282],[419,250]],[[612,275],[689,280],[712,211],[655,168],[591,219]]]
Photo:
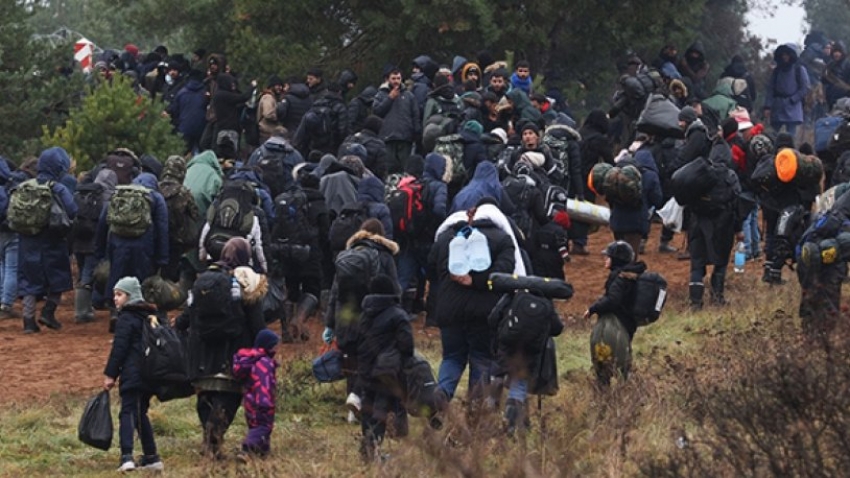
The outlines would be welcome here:
[[[731,338],[722,370],[686,370],[700,431],[648,476],[844,476],[850,468],[850,335],[803,337],[790,317]],[[680,369],[674,365],[674,370]],[[681,372],[681,370],[679,370]],[[721,378],[723,372],[726,379]],[[715,380],[706,381],[706,375]]]

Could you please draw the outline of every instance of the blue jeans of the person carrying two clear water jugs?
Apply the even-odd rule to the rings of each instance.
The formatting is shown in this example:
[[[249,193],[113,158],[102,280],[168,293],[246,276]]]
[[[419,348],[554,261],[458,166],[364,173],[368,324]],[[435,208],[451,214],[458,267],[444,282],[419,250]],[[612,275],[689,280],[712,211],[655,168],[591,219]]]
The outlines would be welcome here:
[[[467,322],[440,328],[443,361],[437,382],[446,396],[454,397],[460,377],[469,364],[469,393],[481,394],[490,380],[493,354],[490,350],[490,327],[486,321]],[[480,396],[480,395],[479,395]]]

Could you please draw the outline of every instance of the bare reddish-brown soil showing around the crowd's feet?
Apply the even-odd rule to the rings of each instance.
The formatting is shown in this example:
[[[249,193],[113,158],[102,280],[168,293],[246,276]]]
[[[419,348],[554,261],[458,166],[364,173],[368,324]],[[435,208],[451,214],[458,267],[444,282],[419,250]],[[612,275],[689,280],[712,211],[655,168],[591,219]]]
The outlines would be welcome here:
[[[641,259],[651,270],[667,278],[670,284],[668,307],[680,308],[687,297],[688,261],[677,260],[676,254],[657,252],[658,227],[653,225],[647,254]],[[575,256],[565,266],[567,278],[575,288],[575,296],[562,306],[568,323],[577,320],[602,292],[606,271],[601,251],[611,237],[605,228],[593,234],[588,245],[590,255]],[[674,245],[683,246],[680,235],[674,239]],[[757,274],[760,268],[748,264],[747,275],[755,277]],[[0,321],[0,384],[3,387],[0,404],[39,401],[53,394],[90,392],[102,383],[103,366],[112,339],[107,332],[108,312],[97,312],[97,320],[93,323],[75,324],[73,300],[73,292],[62,298],[57,317],[64,327],[58,332],[42,328],[39,334],[23,335],[20,319]],[[417,329],[422,329],[421,322],[418,321]],[[310,341],[284,345],[282,360],[320,348],[322,326],[319,319],[312,319],[310,326]],[[275,324],[273,328],[279,326]],[[426,329],[418,333],[416,339],[438,341],[439,334],[436,329]]]

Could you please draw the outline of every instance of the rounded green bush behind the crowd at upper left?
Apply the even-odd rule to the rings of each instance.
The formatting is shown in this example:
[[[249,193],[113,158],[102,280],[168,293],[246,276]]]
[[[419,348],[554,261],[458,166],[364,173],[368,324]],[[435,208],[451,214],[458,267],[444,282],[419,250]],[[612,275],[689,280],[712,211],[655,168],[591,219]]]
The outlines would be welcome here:
[[[157,158],[180,154],[185,145],[163,109],[163,103],[137,95],[129,80],[115,76],[94,87],[63,126],[53,132],[45,127],[42,143],[65,148],[79,170],[90,169],[115,148]]]

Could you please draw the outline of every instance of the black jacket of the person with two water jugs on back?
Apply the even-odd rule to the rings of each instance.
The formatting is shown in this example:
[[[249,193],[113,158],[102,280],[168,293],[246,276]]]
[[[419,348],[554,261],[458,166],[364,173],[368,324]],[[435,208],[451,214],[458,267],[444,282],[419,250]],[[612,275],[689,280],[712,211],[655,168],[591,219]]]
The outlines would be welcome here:
[[[428,266],[437,278],[435,309],[437,325],[452,326],[463,323],[486,324],[487,316],[499,301],[500,294],[490,291],[487,281],[493,272],[514,271],[514,244],[510,236],[489,220],[473,221],[472,226],[487,237],[490,248],[490,268],[470,272],[472,284],[461,285],[449,273],[449,242],[467,224],[458,223],[437,237],[428,257]],[[429,304],[430,308],[430,304]]]

